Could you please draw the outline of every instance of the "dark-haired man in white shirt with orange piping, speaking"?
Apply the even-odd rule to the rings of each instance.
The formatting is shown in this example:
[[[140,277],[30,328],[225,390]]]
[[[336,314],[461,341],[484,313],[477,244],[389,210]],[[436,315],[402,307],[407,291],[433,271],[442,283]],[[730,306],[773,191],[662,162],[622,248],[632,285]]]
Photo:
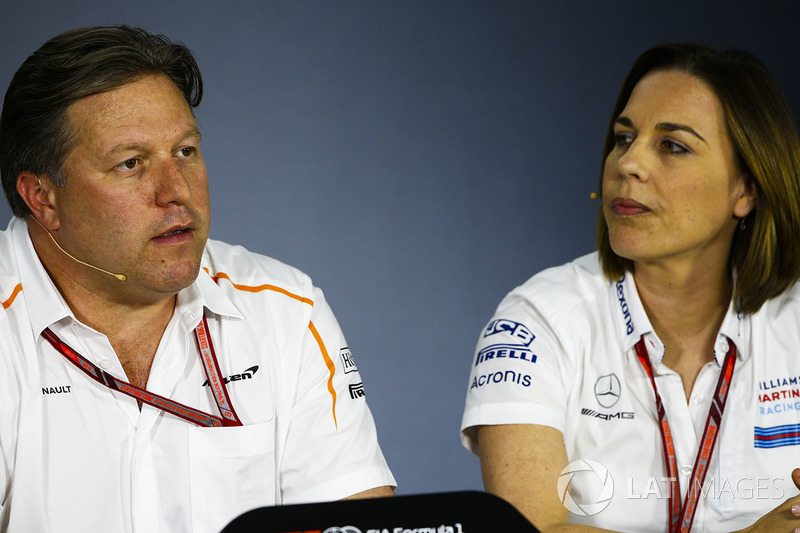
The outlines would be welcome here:
[[[74,30],[14,76],[0,174],[0,529],[218,531],[394,486],[304,274],[207,241],[191,53]]]

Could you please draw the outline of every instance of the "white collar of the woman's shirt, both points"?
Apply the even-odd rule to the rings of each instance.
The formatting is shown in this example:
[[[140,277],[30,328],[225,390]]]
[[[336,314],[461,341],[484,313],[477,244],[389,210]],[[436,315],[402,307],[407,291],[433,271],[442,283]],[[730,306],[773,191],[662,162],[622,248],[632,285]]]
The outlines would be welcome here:
[[[610,285],[609,290],[612,294],[611,311],[617,324],[620,345],[625,351],[632,350],[644,336],[651,362],[654,365],[660,363],[664,357],[664,345],[647,317],[633,276],[630,272],[626,272],[620,280]],[[750,356],[747,342],[750,338],[749,333],[750,315],[737,312],[731,301],[715,343],[714,357],[717,364],[721,365],[724,361],[729,341],[735,344],[738,359],[746,360]]]

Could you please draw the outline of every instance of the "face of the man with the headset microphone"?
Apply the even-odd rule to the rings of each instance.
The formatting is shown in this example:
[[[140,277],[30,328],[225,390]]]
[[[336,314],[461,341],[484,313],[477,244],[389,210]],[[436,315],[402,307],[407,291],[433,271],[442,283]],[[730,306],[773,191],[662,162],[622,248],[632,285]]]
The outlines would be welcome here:
[[[178,88],[146,76],[78,100],[67,116],[77,144],[65,160],[67,185],[54,190],[61,245],[125,274],[117,288],[127,297],[153,301],[190,285],[208,238],[208,177]]]

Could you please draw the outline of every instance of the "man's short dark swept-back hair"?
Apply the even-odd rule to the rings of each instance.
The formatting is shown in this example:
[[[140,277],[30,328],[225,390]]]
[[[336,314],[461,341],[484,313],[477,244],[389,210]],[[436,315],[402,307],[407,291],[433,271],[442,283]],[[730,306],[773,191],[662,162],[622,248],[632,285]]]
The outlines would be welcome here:
[[[189,49],[140,28],[71,30],[28,57],[8,86],[0,116],[0,178],[14,215],[30,215],[17,193],[20,172],[66,184],[64,160],[76,143],[70,104],[158,74],[175,83],[190,108],[200,104],[203,80]]]

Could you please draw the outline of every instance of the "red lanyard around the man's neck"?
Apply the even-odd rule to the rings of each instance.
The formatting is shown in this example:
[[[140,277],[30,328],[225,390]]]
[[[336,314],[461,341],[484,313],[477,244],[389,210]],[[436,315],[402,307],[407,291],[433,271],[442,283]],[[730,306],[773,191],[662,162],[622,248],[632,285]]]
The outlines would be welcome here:
[[[65,342],[59,339],[55,333],[50,331],[50,328],[45,328],[42,336],[53,345],[61,355],[67,358],[72,364],[82,370],[87,376],[97,381],[101,385],[109,389],[119,391],[136,398],[140,402],[152,405],[164,412],[173,414],[177,417],[193,422],[198,426],[205,427],[222,427],[222,426],[241,426],[239,417],[231,405],[230,396],[225,388],[225,380],[222,379],[217,363],[217,356],[214,353],[214,345],[211,343],[211,336],[208,333],[208,322],[206,318],[197,325],[194,330],[195,340],[197,341],[197,348],[200,350],[200,359],[203,360],[203,367],[206,370],[206,377],[208,384],[214,394],[214,400],[217,402],[217,408],[222,415],[222,418],[211,415],[199,409],[183,405],[176,401],[159,396],[152,392],[147,392],[144,389],[131,385],[125,381],[120,381],[105,370],[98,368],[94,363],[83,357],[81,354],[73,350]]]

